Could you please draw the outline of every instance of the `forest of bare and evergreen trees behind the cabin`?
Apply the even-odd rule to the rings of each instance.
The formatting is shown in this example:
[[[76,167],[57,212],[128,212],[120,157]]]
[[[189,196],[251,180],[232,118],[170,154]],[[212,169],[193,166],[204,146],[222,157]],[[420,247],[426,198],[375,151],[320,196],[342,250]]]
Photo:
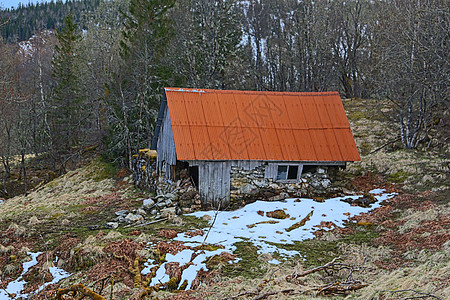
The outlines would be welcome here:
[[[83,0],[3,10],[0,196],[8,195],[13,158],[27,178],[28,154],[64,173],[97,145],[130,166],[151,143],[165,86],[389,99],[393,143],[448,147],[449,6]]]

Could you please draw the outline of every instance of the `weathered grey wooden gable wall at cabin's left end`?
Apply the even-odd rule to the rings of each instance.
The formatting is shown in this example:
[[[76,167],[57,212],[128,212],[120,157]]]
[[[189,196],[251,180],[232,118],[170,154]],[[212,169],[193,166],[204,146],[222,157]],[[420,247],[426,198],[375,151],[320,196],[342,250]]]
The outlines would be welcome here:
[[[165,164],[163,164],[165,162]],[[163,123],[158,137],[157,148],[157,168],[164,172],[168,179],[173,179],[172,166],[177,163],[177,153],[175,150],[175,140],[173,139],[172,123],[170,122],[169,110],[166,107]]]

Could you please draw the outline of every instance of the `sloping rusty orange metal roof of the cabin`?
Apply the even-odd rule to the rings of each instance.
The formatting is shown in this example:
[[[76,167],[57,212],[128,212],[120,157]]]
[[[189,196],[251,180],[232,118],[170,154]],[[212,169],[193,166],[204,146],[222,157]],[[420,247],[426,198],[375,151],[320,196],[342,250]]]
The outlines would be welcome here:
[[[165,92],[178,160],[361,160],[337,92]]]

